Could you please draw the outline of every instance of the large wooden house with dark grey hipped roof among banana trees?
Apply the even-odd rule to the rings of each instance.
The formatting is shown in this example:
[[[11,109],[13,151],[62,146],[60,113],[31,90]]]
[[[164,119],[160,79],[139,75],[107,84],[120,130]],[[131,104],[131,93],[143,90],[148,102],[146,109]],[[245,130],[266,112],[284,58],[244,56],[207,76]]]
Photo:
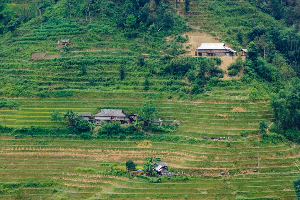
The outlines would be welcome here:
[[[127,121],[133,121],[133,118],[130,117],[123,109],[101,109],[96,115],[94,115],[95,123],[99,124],[100,121],[104,120],[109,121],[120,121],[122,124]]]

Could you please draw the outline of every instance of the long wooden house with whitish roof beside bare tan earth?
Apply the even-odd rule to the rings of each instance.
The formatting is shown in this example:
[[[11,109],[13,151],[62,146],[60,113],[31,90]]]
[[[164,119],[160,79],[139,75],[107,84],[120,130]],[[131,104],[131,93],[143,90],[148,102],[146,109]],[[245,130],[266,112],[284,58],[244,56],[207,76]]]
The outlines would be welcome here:
[[[196,56],[234,56],[235,52],[225,43],[202,43],[196,48]]]

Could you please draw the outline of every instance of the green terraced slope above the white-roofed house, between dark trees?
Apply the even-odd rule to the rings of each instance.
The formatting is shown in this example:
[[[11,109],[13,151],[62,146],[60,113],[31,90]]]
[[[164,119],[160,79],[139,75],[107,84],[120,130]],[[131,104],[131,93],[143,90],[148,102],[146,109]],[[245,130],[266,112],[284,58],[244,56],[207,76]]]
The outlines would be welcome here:
[[[188,24],[195,29],[211,33],[220,41],[239,46],[237,33],[247,33],[253,27],[255,7],[248,1],[191,0]],[[184,1],[178,1],[178,12],[184,16]],[[257,10],[256,24],[269,26],[277,22]],[[241,41],[242,42],[242,41]]]

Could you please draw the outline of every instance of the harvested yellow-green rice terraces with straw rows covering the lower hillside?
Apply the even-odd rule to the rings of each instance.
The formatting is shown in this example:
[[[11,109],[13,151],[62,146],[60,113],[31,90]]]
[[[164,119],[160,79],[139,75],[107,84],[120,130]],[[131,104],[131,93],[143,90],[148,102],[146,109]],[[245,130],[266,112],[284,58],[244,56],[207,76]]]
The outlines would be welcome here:
[[[2,109],[1,118],[7,120],[1,123],[53,127],[49,121],[52,108],[61,112],[67,109],[96,112],[99,108],[122,107],[126,112],[138,112],[146,100],[139,93],[131,94],[130,98],[135,100],[130,101],[124,95],[121,98],[106,94],[110,95],[107,99],[105,93],[100,94],[95,99],[13,99],[21,102],[20,109]],[[122,141],[85,141],[48,136],[15,138],[2,134],[0,181],[3,187],[9,185],[9,188],[3,190],[0,198],[295,198],[291,180],[299,175],[295,165],[300,165],[298,145],[274,138],[272,143],[257,135],[260,121],[264,119],[270,124],[273,120],[268,102],[232,103],[230,111],[227,103],[164,100],[163,97],[154,103],[159,117],[182,120],[182,126],[175,132],[149,136],[147,142],[134,137]],[[233,112],[234,108],[244,108],[245,112]],[[216,115],[224,113],[228,117]],[[226,136],[226,141],[203,140],[204,136]],[[258,151],[259,173],[253,173],[258,169]],[[109,171],[108,164],[124,169],[125,161],[130,159],[141,166],[150,155],[160,157],[179,174],[191,175],[191,179],[165,179],[158,184],[113,173],[104,175],[105,170]],[[221,176],[220,172],[226,175]],[[29,184],[32,182],[35,184]]]

